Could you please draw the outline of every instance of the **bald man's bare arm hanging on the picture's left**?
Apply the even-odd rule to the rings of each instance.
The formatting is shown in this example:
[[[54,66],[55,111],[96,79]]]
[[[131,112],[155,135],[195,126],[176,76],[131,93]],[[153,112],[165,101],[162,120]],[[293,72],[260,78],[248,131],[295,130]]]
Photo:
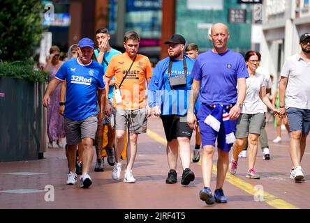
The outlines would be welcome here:
[[[195,129],[198,126],[197,118],[195,117],[193,111],[195,109],[195,104],[197,102],[197,98],[200,92],[200,86],[201,81],[193,79],[193,84],[191,85],[191,95],[189,97],[189,110],[187,112],[187,123],[192,129]]]

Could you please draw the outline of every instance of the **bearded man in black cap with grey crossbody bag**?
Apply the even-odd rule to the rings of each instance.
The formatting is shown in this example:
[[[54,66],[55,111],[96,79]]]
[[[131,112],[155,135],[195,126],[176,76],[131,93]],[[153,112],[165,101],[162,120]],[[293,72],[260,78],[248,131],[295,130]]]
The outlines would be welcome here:
[[[148,104],[155,116],[161,116],[167,143],[170,171],[166,183],[177,183],[177,160],[180,155],[183,174],[182,185],[189,185],[195,179],[191,164],[190,140],[193,130],[186,123],[190,77],[193,60],[184,55],[185,39],[175,34],[168,44],[169,56],[159,61],[149,84]],[[180,153],[178,155],[178,152]]]

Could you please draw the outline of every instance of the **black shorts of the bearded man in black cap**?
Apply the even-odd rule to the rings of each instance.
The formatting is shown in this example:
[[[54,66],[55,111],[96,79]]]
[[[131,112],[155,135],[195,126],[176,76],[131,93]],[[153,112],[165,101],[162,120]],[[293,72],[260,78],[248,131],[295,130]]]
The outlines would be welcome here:
[[[191,134],[193,130],[186,122],[185,116],[178,116],[176,114],[161,116],[161,121],[163,121],[163,128],[165,130],[165,138],[167,141],[172,141],[172,139],[177,139],[177,137],[186,137],[191,139]]]

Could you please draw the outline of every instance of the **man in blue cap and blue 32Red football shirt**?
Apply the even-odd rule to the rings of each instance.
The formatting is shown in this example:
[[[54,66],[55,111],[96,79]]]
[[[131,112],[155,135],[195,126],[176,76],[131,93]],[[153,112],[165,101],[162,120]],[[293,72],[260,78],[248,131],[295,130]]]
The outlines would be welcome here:
[[[78,46],[80,49],[78,58],[66,61],[59,68],[56,77],[48,84],[43,97],[43,106],[47,107],[54,89],[60,82],[66,80],[64,125],[68,144],[67,185],[77,183],[75,174],[76,147],[82,140],[84,151],[80,187],[87,188],[92,183],[88,173],[94,155],[93,141],[96,136],[97,123],[103,121],[105,83],[103,81],[103,66],[91,60],[91,56],[94,54],[94,42],[89,38],[82,38]],[[99,113],[96,109],[97,93],[100,105]]]

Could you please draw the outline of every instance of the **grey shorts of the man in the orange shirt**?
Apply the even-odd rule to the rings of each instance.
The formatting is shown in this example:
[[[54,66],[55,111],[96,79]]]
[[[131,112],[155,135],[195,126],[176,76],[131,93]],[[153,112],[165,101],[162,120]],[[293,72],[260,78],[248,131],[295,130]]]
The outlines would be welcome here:
[[[145,108],[136,110],[116,109],[115,130],[126,130],[128,125],[129,133],[147,132],[147,116]]]

